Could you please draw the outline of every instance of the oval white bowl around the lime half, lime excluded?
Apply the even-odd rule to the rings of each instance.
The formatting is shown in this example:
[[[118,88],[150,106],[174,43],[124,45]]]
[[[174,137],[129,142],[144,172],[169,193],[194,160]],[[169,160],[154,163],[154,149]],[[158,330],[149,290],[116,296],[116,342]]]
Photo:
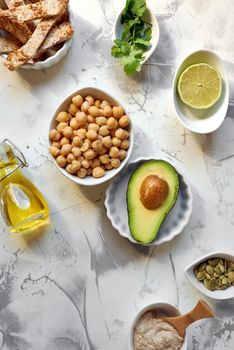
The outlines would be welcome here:
[[[222,95],[216,104],[208,109],[196,110],[185,105],[177,92],[177,83],[181,73],[190,65],[207,63],[214,67],[222,79]],[[173,103],[179,121],[187,129],[200,134],[210,133],[222,124],[228,109],[229,85],[221,58],[210,50],[199,50],[187,56],[179,65],[173,81]]]

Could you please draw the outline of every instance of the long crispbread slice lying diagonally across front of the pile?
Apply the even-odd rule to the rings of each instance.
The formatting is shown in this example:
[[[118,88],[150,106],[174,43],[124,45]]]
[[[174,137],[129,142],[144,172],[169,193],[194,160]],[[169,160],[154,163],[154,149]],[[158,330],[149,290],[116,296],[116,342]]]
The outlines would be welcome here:
[[[37,51],[51,28],[55,25],[57,18],[43,19],[38,23],[35,31],[28,42],[16,52],[10,52],[5,61],[5,66],[9,70],[15,70],[24,63],[35,57]]]

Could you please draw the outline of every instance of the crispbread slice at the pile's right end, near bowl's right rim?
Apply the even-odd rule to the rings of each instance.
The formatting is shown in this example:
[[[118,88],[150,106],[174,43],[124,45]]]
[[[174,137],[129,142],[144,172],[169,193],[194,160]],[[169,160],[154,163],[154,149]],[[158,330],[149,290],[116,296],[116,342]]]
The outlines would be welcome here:
[[[69,40],[74,33],[74,30],[69,22],[64,22],[59,26],[53,28],[44,43],[41,45],[38,55],[41,55],[44,51]]]

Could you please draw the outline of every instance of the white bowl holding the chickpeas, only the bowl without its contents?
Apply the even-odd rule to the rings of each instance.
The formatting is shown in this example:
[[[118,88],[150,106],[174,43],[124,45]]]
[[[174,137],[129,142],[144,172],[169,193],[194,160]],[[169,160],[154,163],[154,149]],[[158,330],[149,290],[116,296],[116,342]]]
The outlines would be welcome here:
[[[51,123],[50,123],[50,127],[49,130],[56,128],[56,125],[58,124],[56,122],[56,116],[59,112],[61,111],[66,111],[68,109],[68,106],[71,103],[72,97],[76,96],[77,94],[80,94],[82,96],[87,96],[87,95],[92,95],[93,97],[100,99],[100,100],[108,100],[113,106],[121,106],[124,110],[125,113],[128,115],[126,109],[123,107],[123,105],[117,101],[114,97],[112,97],[111,95],[109,95],[107,92],[104,92],[103,90],[97,89],[95,87],[86,87],[83,89],[80,89],[76,92],[74,92],[72,95],[68,96],[61,104],[60,106],[57,108]],[[130,117],[129,117],[130,118]],[[131,119],[130,119],[131,120]],[[57,167],[57,169],[64,175],[66,176],[68,179],[70,179],[71,181],[77,183],[78,185],[83,185],[83,186],[96,186],[96,185],[100,185],[106,181],[111,180],[114,176],[116,176],[126,165],[132,149],[133,149],[133,141],[134,141],[134,132],[133,132],[133,126],[132,126],[132,122],[130,123],[129,126],[129,132],[130,132],[130,137],[129,137],[129,141],[130,141],[130,145],[129,145],[129,149],[127,150],[127,157],[121,162],[120,167],[117,169],[112,169],[112,170],[108,170],[106,171],[106,174],[99,178],[99,179],[95,179],[93,176],[87,176],[84,179],[79,178],[78,176],[74,176],[69,174],[65,169],[60,168],[55,160],[54,157],[52,157],[53,162],[55,164],[55,166]],[[49,140],[49,144],[51,144],[51,141]]]

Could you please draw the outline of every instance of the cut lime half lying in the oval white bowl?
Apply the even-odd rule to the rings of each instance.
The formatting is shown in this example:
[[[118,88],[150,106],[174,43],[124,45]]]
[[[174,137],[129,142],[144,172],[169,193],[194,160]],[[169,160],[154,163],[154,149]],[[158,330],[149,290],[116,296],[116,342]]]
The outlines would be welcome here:
[[[195,109],[212,107],[222,93],[220,74],[206,63],[193,64],[184,70],[178,81],[181,100]]]

